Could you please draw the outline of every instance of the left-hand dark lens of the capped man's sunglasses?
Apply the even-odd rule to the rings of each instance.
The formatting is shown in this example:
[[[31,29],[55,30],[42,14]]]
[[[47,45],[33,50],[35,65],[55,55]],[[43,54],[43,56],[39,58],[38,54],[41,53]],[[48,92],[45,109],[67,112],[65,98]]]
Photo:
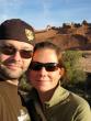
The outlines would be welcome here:
[[[0,52],[5,54],[5,55],[13,55],[15,53],[15,48],[13,48],[11,46],[2,46],[0,48]]]

